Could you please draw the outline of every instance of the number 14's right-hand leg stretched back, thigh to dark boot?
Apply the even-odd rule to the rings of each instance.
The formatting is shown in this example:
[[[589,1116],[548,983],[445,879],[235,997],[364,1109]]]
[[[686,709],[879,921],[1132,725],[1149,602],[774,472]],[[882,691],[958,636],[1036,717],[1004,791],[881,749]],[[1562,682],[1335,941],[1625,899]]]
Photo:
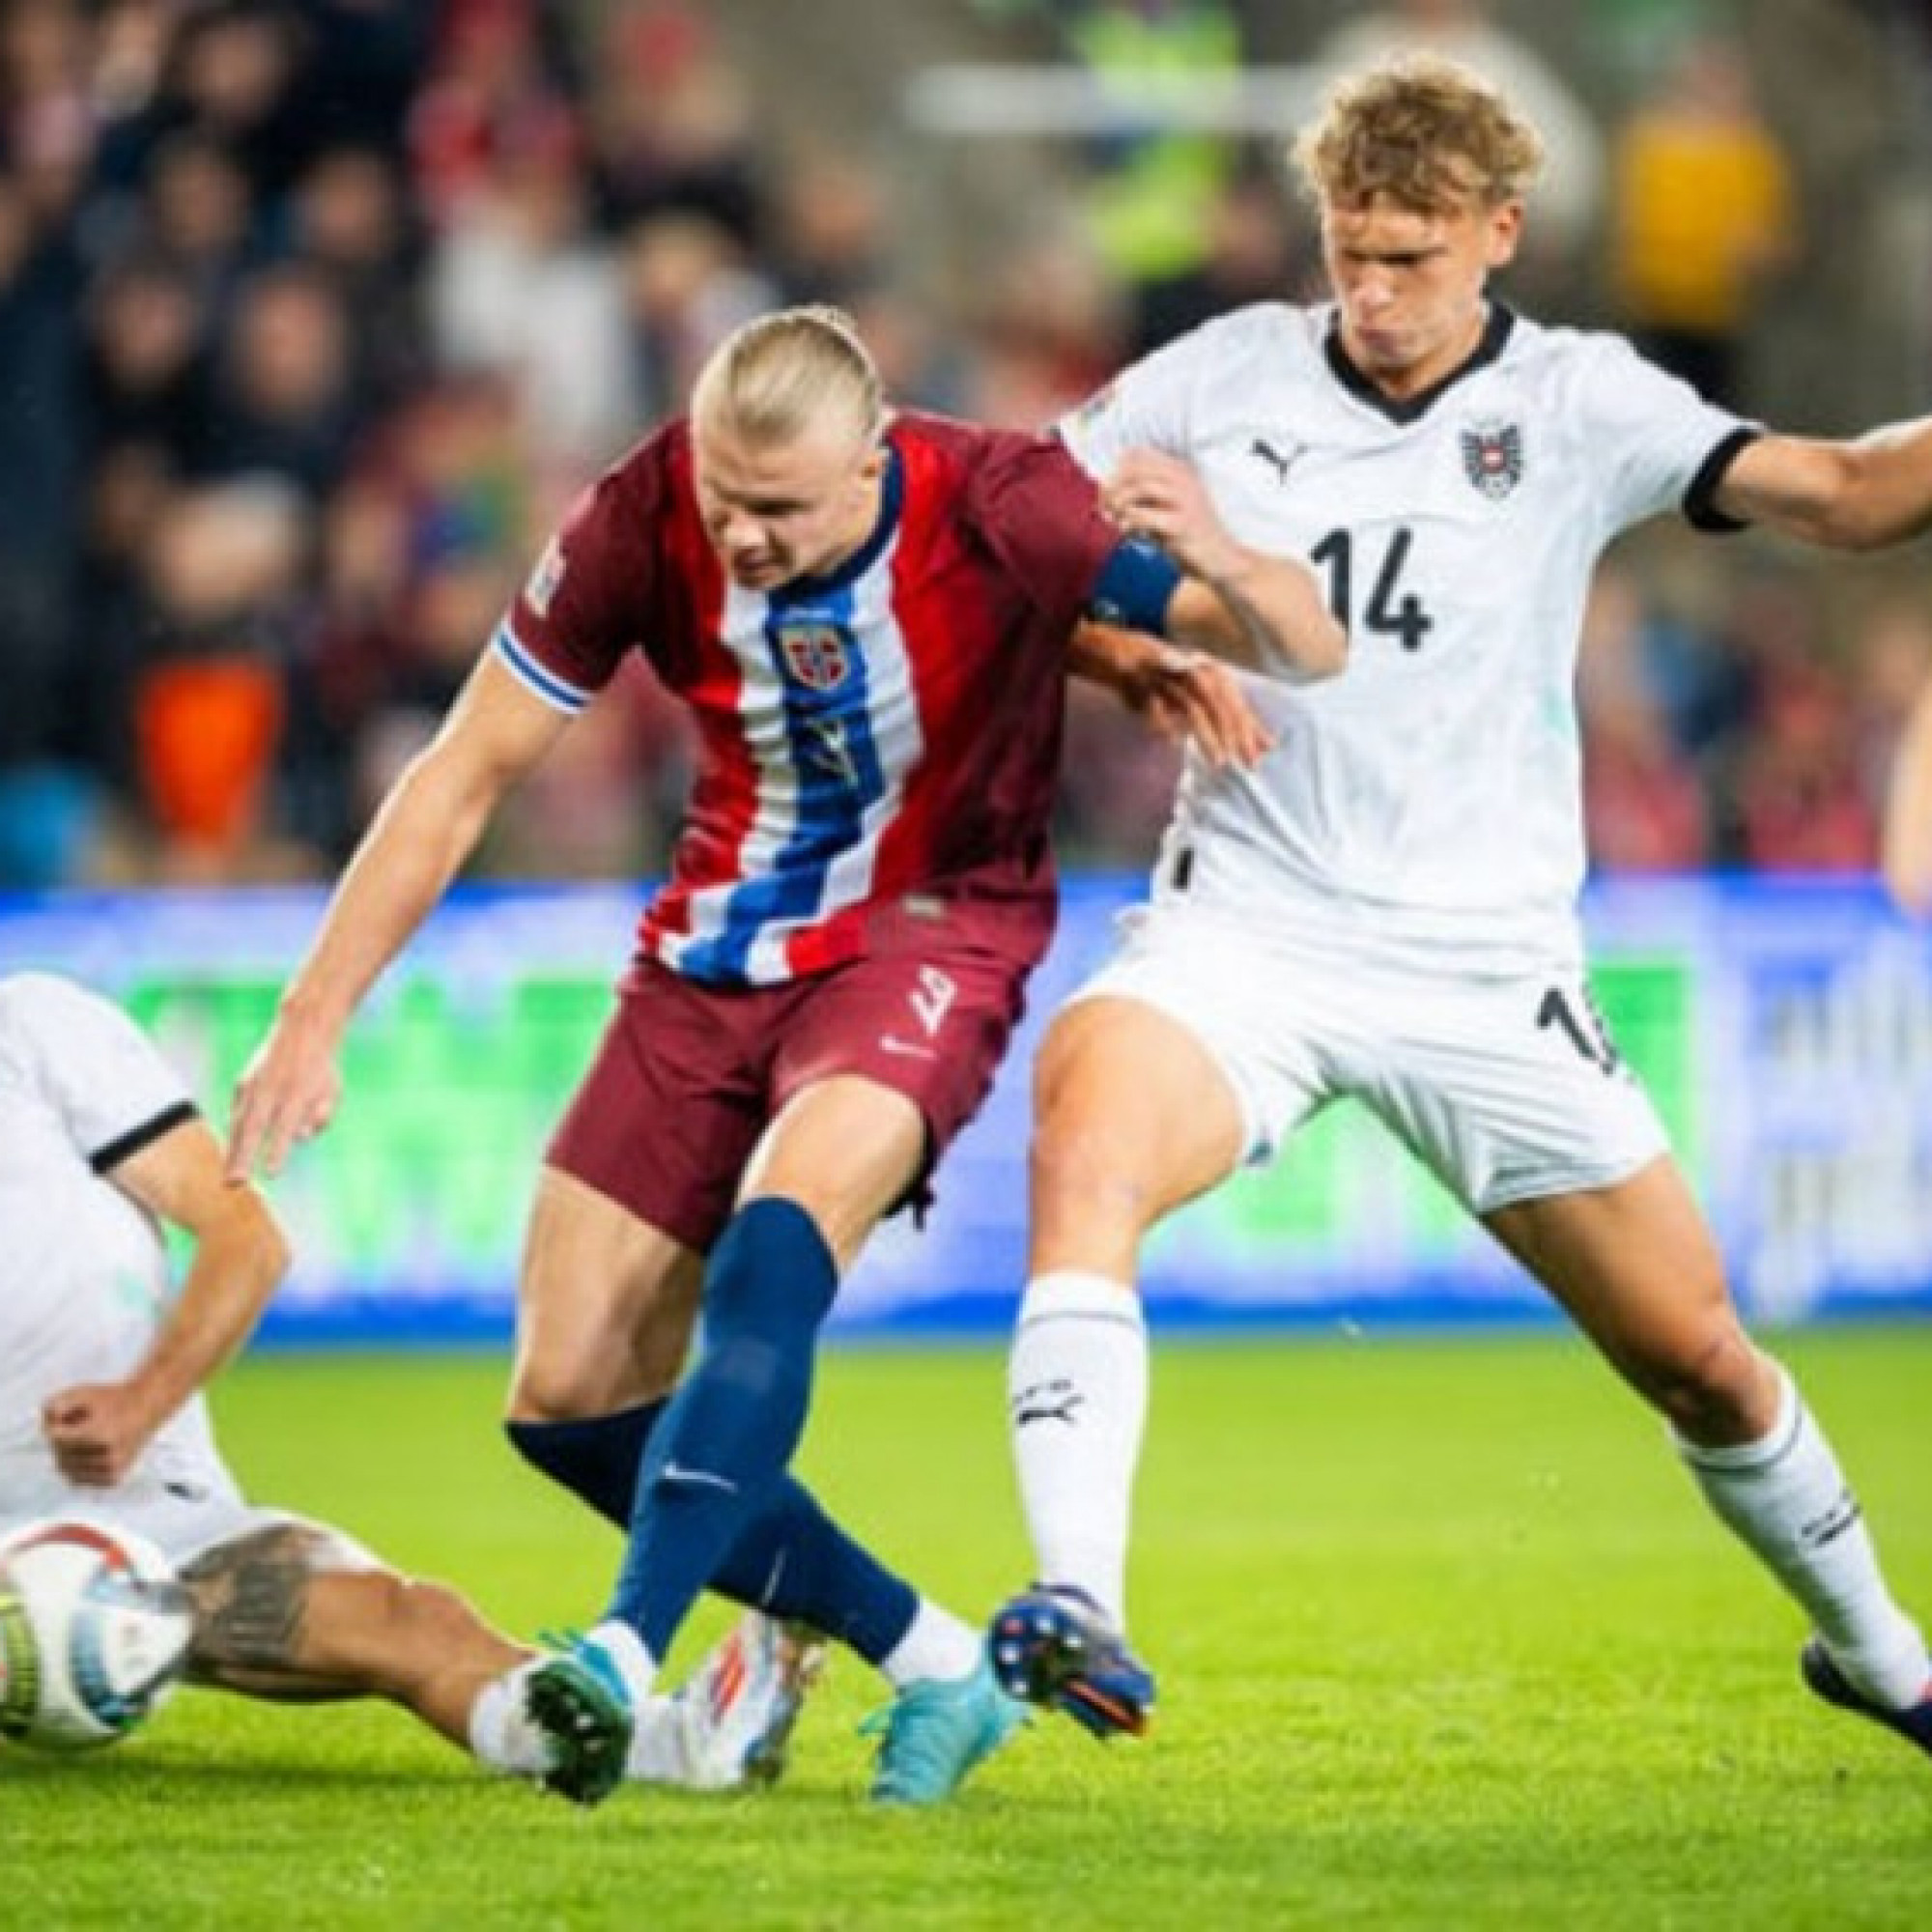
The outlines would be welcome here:
[[[1812,1689],[1932,1750],[1924,1640],[1886,1588],[1830,1443],[1745,1333],[1677,1165],[1486,1219],[1663,1414],[1712,1509],[1803,1605],[1818,1633]]]

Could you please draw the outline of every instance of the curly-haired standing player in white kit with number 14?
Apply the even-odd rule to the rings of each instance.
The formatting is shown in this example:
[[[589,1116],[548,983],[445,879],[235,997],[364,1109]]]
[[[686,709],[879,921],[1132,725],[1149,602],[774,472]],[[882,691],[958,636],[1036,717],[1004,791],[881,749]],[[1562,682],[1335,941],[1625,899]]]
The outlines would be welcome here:
[[[1258,699],[1277,746],[1256,769],[1188,767],[1151,906],[1043,1043],[1010,1360],[1039,1582],[995,1615],[995,1667],[1101,1737],[1144,1727],[1122,1634],[1140,1242],[1352,1095],[1662,1412],[1814,1627],[1808,1685],[1932,1750],[1924,1640],[1590,1005],[1573,697],[1617,531],[1675,510],[1899,541],[1932,522],[1932,419],[1764,433],[1617,336],[1509,313],[1486,284],[1536,133],[1457,66],[1343,81],[1296,160],[1333,303],[1221,317],[1063,425],[1130,527],[1184,514],[1128,454],[1151,446],[1200,468],[1238,541],[1308,558],[1350,668]]]

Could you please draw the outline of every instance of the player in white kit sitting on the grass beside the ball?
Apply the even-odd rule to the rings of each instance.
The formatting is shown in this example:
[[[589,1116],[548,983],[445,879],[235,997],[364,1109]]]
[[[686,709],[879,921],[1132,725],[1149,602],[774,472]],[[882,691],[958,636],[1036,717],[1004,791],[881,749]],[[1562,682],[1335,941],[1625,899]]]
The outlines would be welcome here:
[[[162,1225],[191,1258],[170,1289]],[[247,1503],[201,1389],[288,1265],[180,1076],[118,1007],[0,978],[0,1534],[39,1517],[139,1530],[195,1605],[189,1679],[263,1698],[384,1696],[497,1770],[541,1777],[529,1652],[340,1530]],[[630,1774],[723,1787],[782,1766],[823,1646],[748,1613],[632,1735]]]

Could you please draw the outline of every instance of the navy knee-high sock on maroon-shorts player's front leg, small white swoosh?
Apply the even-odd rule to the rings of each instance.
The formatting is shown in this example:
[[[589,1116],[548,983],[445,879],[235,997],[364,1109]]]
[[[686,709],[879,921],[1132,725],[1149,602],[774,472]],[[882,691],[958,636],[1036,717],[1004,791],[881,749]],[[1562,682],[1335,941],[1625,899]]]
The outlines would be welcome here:
[[[663,1660],[697,1594],[784,1482],[838,1267],[796,1202],[732,1215],[705,1269],[705,1350],[651,1432],[609,1617]]]

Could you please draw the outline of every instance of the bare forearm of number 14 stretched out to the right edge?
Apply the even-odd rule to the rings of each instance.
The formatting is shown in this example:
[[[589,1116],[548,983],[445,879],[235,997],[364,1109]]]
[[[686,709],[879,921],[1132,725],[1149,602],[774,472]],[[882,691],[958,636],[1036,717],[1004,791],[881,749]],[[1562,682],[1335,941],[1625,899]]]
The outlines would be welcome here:
[[[1731,460],[1716,508],[1833,551],[1882,551],[1932,529],[1932,417],[1849,442],[1758,437]]]

